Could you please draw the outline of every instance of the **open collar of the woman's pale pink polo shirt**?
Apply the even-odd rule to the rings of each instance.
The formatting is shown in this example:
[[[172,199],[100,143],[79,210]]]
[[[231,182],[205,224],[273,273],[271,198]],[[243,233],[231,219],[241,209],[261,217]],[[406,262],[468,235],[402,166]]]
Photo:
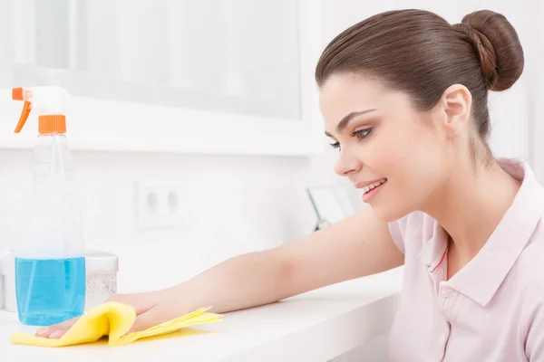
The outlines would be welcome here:
[[[527,163],[500,161],[500,166],[520,180],[521,186],[512,205],[480,252],[450,281],[452,289],[485,307],[499,289],[544,214],[544,188]],[[429,242],[423,245],[422,259],[433,271],[442,262],[447,234],[435,222]]]

